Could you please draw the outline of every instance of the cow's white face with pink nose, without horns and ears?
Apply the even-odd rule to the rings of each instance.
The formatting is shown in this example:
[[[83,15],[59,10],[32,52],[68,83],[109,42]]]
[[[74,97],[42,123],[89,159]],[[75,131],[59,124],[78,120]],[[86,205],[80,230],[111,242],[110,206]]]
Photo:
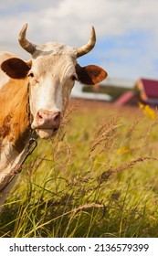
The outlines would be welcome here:
[[[56,46],[56,50],[58,54],[54,49],[53,54],[32,59],[32,67],[28,72],[33,115],[31,127],[37,130],[41,138],[48,138],[58,130],[77,80],[75,50],[63,45]],[[41,52],[44,52],[43,49]]]

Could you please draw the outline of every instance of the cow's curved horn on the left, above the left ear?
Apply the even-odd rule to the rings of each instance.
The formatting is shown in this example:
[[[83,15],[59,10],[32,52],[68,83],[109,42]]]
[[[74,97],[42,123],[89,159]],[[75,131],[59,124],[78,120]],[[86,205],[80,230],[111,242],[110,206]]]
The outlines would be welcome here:
[[[27,39],[26,39],[26,28],[27,28],[27,24],[25,24],[18,36],[18,42],[20,44],[20,46],[24,49],[26,49],[27,52],[33,54],[36,50],[37,45],[34,45],[32,43],[30,43]]]

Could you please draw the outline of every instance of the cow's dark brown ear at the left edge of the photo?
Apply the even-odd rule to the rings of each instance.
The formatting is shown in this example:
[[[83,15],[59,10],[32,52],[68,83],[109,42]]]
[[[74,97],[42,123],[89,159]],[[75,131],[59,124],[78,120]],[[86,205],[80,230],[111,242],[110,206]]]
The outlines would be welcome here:
[[[12,79],[24,79],[31,69],[31,62],[25,62],[22,59],[6,59],[1,64],[1,69]]]

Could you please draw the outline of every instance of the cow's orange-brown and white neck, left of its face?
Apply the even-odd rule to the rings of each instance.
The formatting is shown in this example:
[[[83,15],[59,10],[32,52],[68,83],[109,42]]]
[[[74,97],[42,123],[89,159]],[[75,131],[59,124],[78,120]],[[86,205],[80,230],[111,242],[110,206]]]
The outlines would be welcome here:
[[[0,182],[24,155],[28,131],[27,80],[11,80],[0,90]]]

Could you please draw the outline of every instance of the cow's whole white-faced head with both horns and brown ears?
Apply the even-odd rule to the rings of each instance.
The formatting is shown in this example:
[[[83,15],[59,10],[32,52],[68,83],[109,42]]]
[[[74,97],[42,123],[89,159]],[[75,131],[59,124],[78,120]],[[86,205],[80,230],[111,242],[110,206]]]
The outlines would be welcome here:
[[[37,46],[26,39],[26,28],[27,25],[19,34],[19,43],[31,53],[32,59],[27,62],[17,58],[7,59],[1,68],[13,79],[28,80],[32,129],[36,129],[41,138],[47,139],[59,128],[75,80],[93,85],[104,80],[107,72],[95,65],[80,67],[77,62],[95,45],[94,27],[88,44],[80,48],[58,43]]]

